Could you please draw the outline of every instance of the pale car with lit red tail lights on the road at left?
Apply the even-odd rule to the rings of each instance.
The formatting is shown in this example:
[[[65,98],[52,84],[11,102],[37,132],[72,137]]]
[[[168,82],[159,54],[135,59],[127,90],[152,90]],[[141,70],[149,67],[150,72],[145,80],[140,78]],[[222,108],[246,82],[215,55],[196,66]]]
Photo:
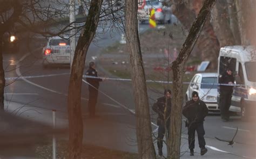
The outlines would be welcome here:
[[[49,64],[70,64],[70,40],[52,37],[43,48],[43,67]]]

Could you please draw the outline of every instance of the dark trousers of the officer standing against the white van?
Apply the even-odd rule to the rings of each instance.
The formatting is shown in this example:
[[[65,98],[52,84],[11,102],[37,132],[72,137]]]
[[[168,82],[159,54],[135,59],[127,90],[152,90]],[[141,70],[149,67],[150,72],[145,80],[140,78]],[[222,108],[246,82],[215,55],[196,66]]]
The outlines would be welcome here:
[[[231,105],[232,92],[221,91],[220,92],[220,115],[221,119],[228,120],[230,118],[230,105]]]

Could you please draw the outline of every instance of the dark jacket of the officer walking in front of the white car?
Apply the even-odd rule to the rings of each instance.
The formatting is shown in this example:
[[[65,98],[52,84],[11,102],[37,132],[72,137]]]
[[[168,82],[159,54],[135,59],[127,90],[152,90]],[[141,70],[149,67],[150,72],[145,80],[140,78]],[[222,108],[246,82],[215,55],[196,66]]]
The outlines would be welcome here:
[[[202,100],[194,102],[193,99],[189,100],[183,108],[182,114],[187,118],[188,123],[201,123],[208,114],[206,104]]]

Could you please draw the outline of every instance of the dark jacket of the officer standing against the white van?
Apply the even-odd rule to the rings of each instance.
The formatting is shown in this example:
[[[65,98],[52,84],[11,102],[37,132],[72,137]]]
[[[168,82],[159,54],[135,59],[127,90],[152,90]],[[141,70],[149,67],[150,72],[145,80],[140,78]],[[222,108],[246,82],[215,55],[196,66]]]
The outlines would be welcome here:
[[[227,73],[222,74],[219,76],[219,84],[228,84],[228,82],[234,83],[234,76],[228,75]],[[233,86],[229,85],[220,85],[220,91],[227,91],[232,93],[233,92]]]

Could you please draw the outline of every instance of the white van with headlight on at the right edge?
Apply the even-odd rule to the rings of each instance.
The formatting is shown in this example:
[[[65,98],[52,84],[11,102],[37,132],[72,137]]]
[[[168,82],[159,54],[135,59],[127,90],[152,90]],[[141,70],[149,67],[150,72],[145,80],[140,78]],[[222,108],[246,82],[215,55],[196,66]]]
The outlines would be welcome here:
[[[218,75],[223,74],[226,68],[233,70],[235,84],[237,84],[234,86],[230,111],[241,113],[242,118],[254,115],[252,113],[256,110],[255,47],[227,46],[220,48]]]

